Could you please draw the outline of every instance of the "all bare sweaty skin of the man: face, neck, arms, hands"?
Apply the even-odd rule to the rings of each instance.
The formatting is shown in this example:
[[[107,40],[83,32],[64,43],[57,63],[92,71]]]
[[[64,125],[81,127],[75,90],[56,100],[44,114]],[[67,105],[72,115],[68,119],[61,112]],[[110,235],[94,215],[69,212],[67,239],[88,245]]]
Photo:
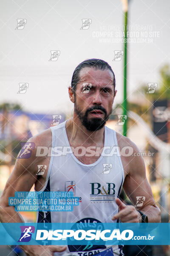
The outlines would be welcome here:
[[[113,75],[110,70],[95,70],[93,68],[84,68],[80,71],[81,77],[76,88],[76,98],[71,87],[69,87],[69,97],[71,101],[79,107],[81,113],[85,113],[88,108],[95,105],[101,105],[105,108],[107,114],[111,112],[113,100],[116,96],[113,90]],[[93,88],[89,93],[82,93],[83,84],[91,83]],[[106,92],[103,88],[107,86]],[[92,118],[91,113],[88,113],[88,118]],[[104,114],[100,116],[104,118]],[[77,147],[79,145],[87,148],[88,146],[104,146],[104,129],[98,131],[88,131],[82,125],[78,115],[73,114],[72,119],[66,122],[66,132],[71,146]],[[127,137],[116,133],[118,145],[121,149],[124,146],[133,147],[133,152],[139,152],[136,145]],[[1,222],[24,222],[23,218],[18,212],[15,212],[13,206],[8,205],[8,198],[14,197],[15,191],[30,191],[31,187],[35,185],[35,189],[39,191],[45,185],[47,171],[43,175],[37,174],[37,165],[47,165],[49,167],[50,156],[36,157],[37,146],[51,147],[52,136],[51,129],[47,129],[34,137],[31,137],[28,142],[35,143],[35,149],[32,151],[31,157],[28,159],[17,159],[14,170],[11,173],[3,195],[0,198],[0,221]],[[100,157],[100,156],[99,156]],[[85,164],[96,162],[99,157],[77,157],[79,161]],[[125,193],[136,204],[136,196],[144,196],[145,201],[142,207],[127,206],[122,203],[119,198],[116,198],[116,204],[119,207],[119,213],[113,216],[113,219],[119,218],[122,222],[141,222],[141,215],[136,211],[136,208],[146,213],[149,222],[160,222],[160,209],[156,206],[153,199],[153,194],[150,184],[146,178],[146,171],[144,160],[141,156],[123,157],[122,165],[125,173],[125,181],[123,188]],[[96,213],[97,214],[97,213]],[[61,252],[66,247],[59,246],[41,246],[41,245],[23,245],[21,246],[28,256],[45,256],[53,255],[54,252]]]

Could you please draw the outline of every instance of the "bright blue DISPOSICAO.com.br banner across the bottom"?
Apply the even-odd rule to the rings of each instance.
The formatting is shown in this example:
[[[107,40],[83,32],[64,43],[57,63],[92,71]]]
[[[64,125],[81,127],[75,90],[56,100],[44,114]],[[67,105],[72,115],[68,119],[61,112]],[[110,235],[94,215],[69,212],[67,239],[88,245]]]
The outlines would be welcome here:
[[[169,245],[170,223],[0,223],[0,244]]]

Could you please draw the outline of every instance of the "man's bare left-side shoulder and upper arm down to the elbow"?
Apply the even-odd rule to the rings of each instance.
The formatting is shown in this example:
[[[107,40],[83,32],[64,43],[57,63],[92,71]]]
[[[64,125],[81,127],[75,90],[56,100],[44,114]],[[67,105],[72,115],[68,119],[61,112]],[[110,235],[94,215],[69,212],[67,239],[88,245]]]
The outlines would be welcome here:
[[[34,184],[36,190],[44,186],[46,173],[39,177],[37,165],[48,165],[50,157],[37,157],[36,152],[38,146],[50,147],[51,141],[51,129],[47,129],[31,137],[21,148],[1,197],[4,205],[8,206],[8,197],[14,196],[15,191],[30,191]]]

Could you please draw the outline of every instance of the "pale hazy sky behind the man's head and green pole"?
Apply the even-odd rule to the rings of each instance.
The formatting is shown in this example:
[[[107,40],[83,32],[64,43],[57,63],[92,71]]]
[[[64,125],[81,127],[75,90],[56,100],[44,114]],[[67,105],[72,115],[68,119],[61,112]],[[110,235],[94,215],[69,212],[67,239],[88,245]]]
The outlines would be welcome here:
[[[68,86],[77,65],[101,58],[111,65],[123,99],[124,16],[121,0],[1,0],[0,104],[19,103],[33,113],[70,112]],[[159,70],[170,63],[170,1],[131,0],[128,10],[127,97],[141,84],[160,85]],[[17,19],[24,19],[23,29]],[[82,19],[90,19],[88,29]],[[26,21],[25,21],[26,20]],[[59,51],[57,61],[49,61]],[[25,93],[18,93],[26,83]]]

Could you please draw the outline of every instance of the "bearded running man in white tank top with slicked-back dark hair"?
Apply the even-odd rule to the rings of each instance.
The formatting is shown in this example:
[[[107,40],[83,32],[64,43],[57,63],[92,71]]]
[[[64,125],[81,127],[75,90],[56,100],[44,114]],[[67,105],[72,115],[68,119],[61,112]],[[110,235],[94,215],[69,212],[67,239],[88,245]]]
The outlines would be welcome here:
[[[89,84],[88,93],[84,93]],[[127,137],[105,126],[112,113],[117,90],[115,75],[109,64],[99,59],[88,59],[74,70],[68,89],[74,113],[71,119],[51,127],[30,138],[35,149],[29,159],[17,159],[0,201],[0,221],[22,222],[13,206],[8,206],[8,198],[15,191],[65,191],[74,185],[74,195],[79,197],[79,206],[72,212],[37,212],[37,222],[79,222],[81,224],[107,222],[160,222],[160,209],[156,206],[150,184],[146,178],[144,160],[114,154],[109,148],[118,146],[133,148],[136,145]],[[37,147],[64,148],[52,150],[51,157],[36,156]],[[65,154],[65,147],[70,148]],[[108,152],[109,151],[109,152]],[[117,152],[118,153],[118,152]],[[55,155],[56,154],[56,155]],[[103,173],[103,166],[110,165],[110,171]],[[37,174],[37,165],[46,165],[44,175]],[[133,205],[126,205],[119,199],[122,189]],[[142,207],[135,207],[136,198],[143,197]],[[140,212],[139,212],[140,211]],[[123,255],[119,245],[23,245],[28,256],[98,256],[110,248],[110,255]],[[57,252],[57,253],[55,253]]]

